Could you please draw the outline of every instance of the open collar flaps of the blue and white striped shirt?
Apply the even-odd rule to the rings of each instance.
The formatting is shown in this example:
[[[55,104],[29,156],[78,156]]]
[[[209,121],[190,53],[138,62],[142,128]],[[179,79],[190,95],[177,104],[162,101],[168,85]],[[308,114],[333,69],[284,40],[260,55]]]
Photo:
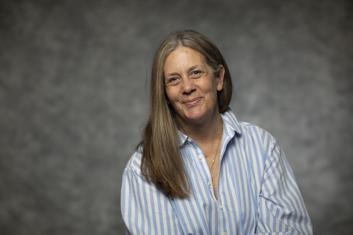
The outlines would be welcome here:
[[[223,125],[225,129],[224,133],[229,133],[229,130],[232,130],[237,132],[239,135],[241,134],[239,122],[235,117],[234,113],[232,112],[231,108],[228,107],[225,112],[221,113],[221,116],[223,118]],[[231,137],[233,136],[234,135],[232,135]],[[190,142],[195,142],[179,130],[179,147],[182,146],[188,138],[190,139]]]

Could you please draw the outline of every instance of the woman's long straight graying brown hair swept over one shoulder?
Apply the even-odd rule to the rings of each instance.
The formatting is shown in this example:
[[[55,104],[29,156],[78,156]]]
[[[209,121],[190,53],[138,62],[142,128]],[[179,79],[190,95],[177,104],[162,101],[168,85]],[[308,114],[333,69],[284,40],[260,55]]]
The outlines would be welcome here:
[[[223,89],[217,91],[219,112],[226,111],[232,98],[232,80],[226,61],[207,37],[193,30],[185,30],[172,32],[162,39],[152,61],[150,115],[137,149],[143,148],[143,176],[169,197],[187,197],[191,193],[179,147],[179,125],[172,106],[167,104],[163,72],[167,56],[182,46],[203,55],[215,76],[219,75],[220,65],[225,68]]]

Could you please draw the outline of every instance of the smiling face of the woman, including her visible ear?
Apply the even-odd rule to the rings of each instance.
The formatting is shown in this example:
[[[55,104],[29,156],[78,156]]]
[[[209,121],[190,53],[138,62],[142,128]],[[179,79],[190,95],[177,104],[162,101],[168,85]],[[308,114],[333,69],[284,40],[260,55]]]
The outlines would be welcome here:
[[[167,102],[182,123],[204,123],[218,113],[217,91],[223,88],[224,68],[215,77],[196,50],[179,47],[164,64]]]

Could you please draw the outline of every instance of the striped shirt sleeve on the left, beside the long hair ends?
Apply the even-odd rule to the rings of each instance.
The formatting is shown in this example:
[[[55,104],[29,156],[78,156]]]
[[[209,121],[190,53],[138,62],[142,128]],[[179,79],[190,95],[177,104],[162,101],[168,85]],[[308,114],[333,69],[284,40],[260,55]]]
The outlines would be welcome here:
[[[169,198],[132,167],[122,175],[121,215],[125,234],[181,234]]]

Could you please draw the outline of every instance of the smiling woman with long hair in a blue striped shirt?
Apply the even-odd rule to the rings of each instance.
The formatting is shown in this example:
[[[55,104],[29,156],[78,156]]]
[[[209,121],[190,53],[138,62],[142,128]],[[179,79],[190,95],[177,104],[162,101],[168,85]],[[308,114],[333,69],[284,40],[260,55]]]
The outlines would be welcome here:
[[[130,234],[312,234],[276,139],[228,108],[232,81],[202,34],[173,32],[152,64],[150,116],[123,173]]]

